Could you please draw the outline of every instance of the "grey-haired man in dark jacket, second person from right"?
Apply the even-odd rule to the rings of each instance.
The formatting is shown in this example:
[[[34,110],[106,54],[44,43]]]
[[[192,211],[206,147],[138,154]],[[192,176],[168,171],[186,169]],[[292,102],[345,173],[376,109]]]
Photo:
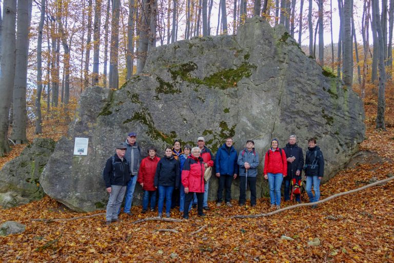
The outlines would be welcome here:
[[[297,137],[290,135],[288,143],[284,148],[287,157],[287,176],[284,178],[285,201],[290,200],[290,184],[293,179],[301,180],[301,171],[304,166],[302,148],[297,145]],[[295,195],[295,200],[301,202],[300,194]]]

